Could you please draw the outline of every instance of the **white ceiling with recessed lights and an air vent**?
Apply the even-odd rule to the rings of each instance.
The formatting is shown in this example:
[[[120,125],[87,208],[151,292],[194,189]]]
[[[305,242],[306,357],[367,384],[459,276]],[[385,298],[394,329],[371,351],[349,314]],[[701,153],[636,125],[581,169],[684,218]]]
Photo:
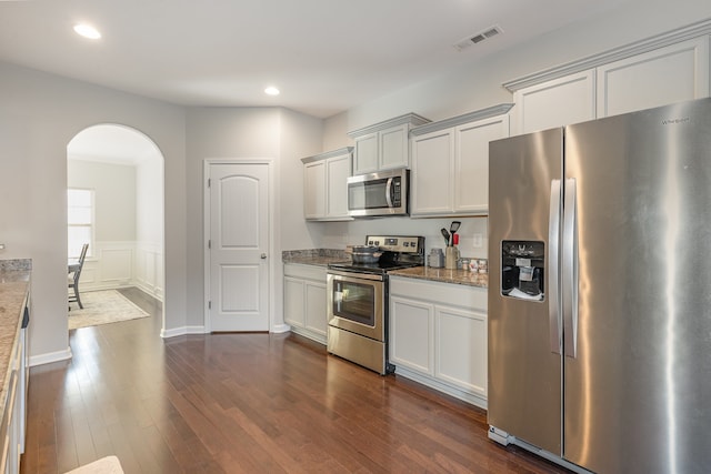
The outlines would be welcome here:
[[[327,118],[622,1],[0,0],[0,60],[177,104]],[[452,47],[494,24],[504,33]]]

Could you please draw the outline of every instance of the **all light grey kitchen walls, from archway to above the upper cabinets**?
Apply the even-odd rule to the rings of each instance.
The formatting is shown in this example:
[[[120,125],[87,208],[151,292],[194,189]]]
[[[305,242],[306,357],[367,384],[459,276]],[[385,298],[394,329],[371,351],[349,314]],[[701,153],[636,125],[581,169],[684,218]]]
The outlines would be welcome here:
[[[711,17],[708,0],[635,0],[584,24],[574,24],[425,83],[364,103],[321,123],[280,109],[174,107],[0,63],[1,259],[33,260],[33,323],[30,353],[49,360],[67,355],[66,185],[67,144],[98,123],[132,127],[150,137],[164,162],[166,329],[202,324],[202,160],[272,158],[280,184],[279,239],[283,249],[341,246],[368,233],[417,233],[428,246],[440,242],[449,220],[388,219],[352,223],[304,223],[298,158],[351,145],[354,130],[405,112],[432,120],[500,102],[501,83]],[[462,53],[462,54],[465,54]],[[321,129],[322,128],[322,129]],[[318,137],[322,130],[323,135]],[[316,143],[313,143],[316,142]],[[485,220],[462,224],[467,239]],[[473,251],[473,250],[472,250]],[[279,255],[276,255],[277,258]],[[280,293],[277,293],[279,297]],[[278,303],[280,304],[280,303]]]

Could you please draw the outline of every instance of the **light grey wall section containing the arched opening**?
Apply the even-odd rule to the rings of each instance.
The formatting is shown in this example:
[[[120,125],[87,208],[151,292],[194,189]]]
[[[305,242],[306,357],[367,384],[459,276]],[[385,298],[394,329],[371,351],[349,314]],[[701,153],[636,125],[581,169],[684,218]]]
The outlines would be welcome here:
[[[184,325],[184,109],[0,63],[0,258],[32,259],[32,363],[69,356],[67,144],[98,123],[142,131],[166,158],[166,325]]]

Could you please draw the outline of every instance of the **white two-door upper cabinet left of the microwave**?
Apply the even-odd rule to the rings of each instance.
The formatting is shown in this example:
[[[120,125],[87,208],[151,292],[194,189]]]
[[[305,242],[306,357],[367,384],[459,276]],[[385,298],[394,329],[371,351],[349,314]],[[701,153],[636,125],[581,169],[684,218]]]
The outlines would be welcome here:
[[[350,220],[348,177],[352,148],[303,158],[303,216],[316,221]]]

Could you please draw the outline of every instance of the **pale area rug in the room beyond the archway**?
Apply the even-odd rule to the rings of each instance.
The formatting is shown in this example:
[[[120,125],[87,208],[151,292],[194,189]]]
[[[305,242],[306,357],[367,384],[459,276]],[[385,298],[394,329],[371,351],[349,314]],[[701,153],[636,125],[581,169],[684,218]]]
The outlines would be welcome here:
[[[83,310],[73,303],[71,305],[71,311],[69,311],[70,330],[137,320],[149,315],[116,290],[81,293],[81,303],[84,305]]]

